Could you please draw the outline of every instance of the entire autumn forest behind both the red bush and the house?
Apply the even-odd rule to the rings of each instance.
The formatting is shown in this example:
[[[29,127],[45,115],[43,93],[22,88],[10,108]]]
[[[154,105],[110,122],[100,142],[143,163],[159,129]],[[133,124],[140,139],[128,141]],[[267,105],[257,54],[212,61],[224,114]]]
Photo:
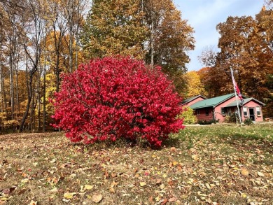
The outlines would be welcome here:
[[[264,115],[272,117],[272,6],[219,23],[220,51],[207,48],[205,67],[187,72],[194,28],[172,0],[1,0],[1,132],[52,129],[48,99],[61,89],[61,74],[112,55],[162,66],[184,98],[232,92],[232,67],[242,93],[265,102]]]

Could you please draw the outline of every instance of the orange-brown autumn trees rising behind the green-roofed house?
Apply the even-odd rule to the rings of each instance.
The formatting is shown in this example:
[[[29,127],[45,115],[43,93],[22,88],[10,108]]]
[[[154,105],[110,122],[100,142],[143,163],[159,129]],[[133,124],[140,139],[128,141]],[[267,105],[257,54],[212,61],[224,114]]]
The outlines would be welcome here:
[[[204,68],[184,75],[192,97],[204,94],[217,97],[234,92],[230,68],[243,94],[266,104],[265,117],[273,116],[273,2],[267,1],[260,13],[228,17],[217,25],[220,34],[218,50],[204,48],[199,59]]]

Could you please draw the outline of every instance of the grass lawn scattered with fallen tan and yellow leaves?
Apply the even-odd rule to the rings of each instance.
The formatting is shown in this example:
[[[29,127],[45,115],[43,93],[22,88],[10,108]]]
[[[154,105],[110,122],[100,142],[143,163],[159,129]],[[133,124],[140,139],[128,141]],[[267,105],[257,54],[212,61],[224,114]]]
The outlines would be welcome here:
[[[161,150],[0,136],[0,204],[272,204],[273,125],[186,127]]]

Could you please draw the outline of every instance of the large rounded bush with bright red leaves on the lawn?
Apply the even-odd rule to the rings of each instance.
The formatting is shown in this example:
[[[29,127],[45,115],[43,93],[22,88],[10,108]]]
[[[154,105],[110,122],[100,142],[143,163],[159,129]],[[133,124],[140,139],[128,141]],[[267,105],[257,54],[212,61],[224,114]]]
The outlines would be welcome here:
[[[95,59],[62,76],[55,93],[55,127],[73,142],[126,138],[161,146],[183,128],[181,99],[160,71],[130,58]]]

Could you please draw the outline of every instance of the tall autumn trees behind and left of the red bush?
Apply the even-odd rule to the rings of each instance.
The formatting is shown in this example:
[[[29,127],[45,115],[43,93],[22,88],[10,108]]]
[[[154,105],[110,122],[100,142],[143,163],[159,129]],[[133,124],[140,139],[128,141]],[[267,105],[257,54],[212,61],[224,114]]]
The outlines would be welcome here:
[[[0,130],[49,129],[61,74],[92,58],[144,59],[183,90],[194,43],[172,0],[0,1]]]

